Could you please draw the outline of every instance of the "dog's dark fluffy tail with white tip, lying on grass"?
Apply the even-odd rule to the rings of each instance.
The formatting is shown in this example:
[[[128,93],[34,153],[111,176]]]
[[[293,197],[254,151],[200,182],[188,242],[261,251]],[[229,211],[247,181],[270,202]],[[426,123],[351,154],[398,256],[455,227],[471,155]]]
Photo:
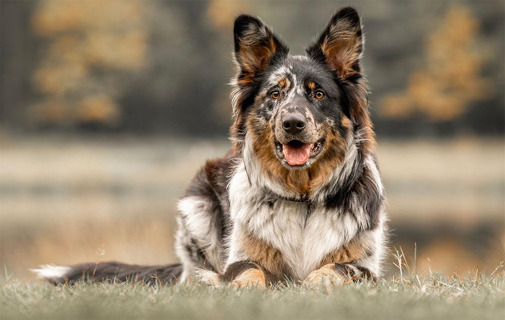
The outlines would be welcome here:
[[[73,266],[54,264],[41,265],[31,269],[37,277],[48,280],[54,285],[83,282],[143,282],[177,283],[182,273],[181,264],[142,266],[119,262],[83,263]]]

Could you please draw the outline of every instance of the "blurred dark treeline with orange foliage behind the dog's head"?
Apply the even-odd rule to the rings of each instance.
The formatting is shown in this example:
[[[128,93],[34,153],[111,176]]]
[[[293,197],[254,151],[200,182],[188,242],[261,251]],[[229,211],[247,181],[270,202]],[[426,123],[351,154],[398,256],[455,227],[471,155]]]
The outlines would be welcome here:
[[[348,4],[2,0],[2,128],[224,136],[235,16],[262,17],[296,55]],[[505,2],[350,4],[379,136],[503,134]]]

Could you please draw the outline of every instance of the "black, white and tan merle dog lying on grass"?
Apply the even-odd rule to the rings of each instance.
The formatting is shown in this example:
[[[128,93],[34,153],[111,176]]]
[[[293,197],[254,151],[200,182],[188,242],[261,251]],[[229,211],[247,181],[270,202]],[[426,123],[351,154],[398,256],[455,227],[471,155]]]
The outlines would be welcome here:
[[[358,13],[334,14],[306,56],[290,56],[255,17],[239,16],[233,33],[233,149],[208,161],[178,204],[181,264],[46,265],[40,276],[233,287],[381,276],[385,199]]]

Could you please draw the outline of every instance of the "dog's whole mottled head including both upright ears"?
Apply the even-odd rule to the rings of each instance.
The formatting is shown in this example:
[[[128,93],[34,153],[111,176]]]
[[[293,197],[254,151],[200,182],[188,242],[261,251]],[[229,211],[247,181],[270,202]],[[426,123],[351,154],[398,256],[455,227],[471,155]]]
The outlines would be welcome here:
[[[341,161],[349,134],[370,126],[357,12],[343,8],[333,15],[307,56],[289,56],[272,31],[250,16],[236,19],[234,40],[231,136],[237,151],[249,141],[270,173],[280,170],[276,166],[310,170]]]

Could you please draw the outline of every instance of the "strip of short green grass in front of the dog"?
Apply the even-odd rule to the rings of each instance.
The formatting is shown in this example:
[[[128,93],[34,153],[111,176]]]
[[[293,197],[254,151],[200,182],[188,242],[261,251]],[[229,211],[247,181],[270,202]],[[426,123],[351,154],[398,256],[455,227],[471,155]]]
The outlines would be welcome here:
[[[503,319],[505,275],[414,275],[378,283],[270,290],[212,289],[195,284],[78,284],[54,287],[1,283],[2,319],[9,318],[401,318]]]

